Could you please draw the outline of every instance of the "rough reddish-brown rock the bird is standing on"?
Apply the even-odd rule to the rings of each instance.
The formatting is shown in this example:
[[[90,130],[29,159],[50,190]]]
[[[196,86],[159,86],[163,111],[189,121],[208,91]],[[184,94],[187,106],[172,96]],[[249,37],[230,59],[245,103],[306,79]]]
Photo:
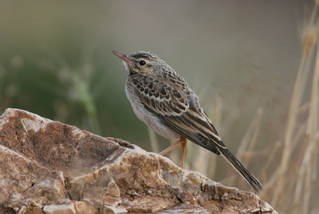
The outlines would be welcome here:
[[[277,213],[254,193],[121,139],[36,114],[0,117],[0,213]]]

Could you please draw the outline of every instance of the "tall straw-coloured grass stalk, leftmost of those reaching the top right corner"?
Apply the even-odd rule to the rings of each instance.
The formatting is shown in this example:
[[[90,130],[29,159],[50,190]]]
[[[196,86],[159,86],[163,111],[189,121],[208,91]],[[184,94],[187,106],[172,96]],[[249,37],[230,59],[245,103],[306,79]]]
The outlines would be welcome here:
[[[291,155],[293,153],[293,147],[291,146],[295,132],[296,132],[296,124],[298,119],[298,110],[301,107],[301,101],[304,95],[304,90],[306,86],[306,81],[308,79],[309,68],[312,62],[313,50],[316,45],[316,36],[317,36],[317,11],[318,11],[318,3],[315,3],[315,7],[312,11],[312,15],[310,18],[310,22],[304,31],[304,42],[303,42],[303,53],[302,59],[298,70],[297,79],[294,84],[292,99],[290,103],[290,109],[288,113],[288,119],[286,124],[286,131],[284,137],[284,148],[281,163],[279,165],[279,173],[277,177],[277,182],[275,186],[274,195],[272,196],[272,204],[277,204],[279,207],[283,207],[284,203],[282,203],[284,199],[284,195],[287,192],[287,181],[289,178],[290,172],[288,169],[291,165]],[[310,104],[311,105],[311,104]],[[311,106],[310,106],[311,108]],[[291,183],[290,183],[291,184]],[[286,199],[287,200],[287,199]],[[281,206],[280,206],[280,204]]]

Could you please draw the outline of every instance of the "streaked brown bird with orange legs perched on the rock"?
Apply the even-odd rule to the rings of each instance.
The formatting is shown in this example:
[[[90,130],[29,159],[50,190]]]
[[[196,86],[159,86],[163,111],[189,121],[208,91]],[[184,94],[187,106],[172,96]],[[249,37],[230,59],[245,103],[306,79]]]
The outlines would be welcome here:
[[[199,104],[198,96],[165,61],[149,52],[129,55],[112,51],[122,59],[128,78],[125,93],[136,116],[159,135],[178,139],[160,155],[179,144],[182,148],[181,168],[184,168],[186,140],[222,155],[255,189],[263,186],[227,149],[208,115]]]

